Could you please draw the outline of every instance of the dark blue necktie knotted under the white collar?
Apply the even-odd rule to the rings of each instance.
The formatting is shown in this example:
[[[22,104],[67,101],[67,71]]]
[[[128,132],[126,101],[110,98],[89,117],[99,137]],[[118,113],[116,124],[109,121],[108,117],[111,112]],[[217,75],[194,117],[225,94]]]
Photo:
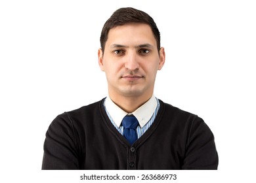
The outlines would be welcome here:
[[[139,122],[135,116],[125,116],[122,120],[123,124],[123,136],[127,141],[130,142],[130,144],[133,144],[137,139],[137,132],[136,128],[139,125]]]

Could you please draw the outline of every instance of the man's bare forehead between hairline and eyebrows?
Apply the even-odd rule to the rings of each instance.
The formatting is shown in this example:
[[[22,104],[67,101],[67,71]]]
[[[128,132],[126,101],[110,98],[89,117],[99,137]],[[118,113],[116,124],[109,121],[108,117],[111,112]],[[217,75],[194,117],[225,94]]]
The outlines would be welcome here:
[[[139,23],[119,25],[110,29],[106,41],[106,45],[146,43],[156,45],[156,39],[150,25]]]

